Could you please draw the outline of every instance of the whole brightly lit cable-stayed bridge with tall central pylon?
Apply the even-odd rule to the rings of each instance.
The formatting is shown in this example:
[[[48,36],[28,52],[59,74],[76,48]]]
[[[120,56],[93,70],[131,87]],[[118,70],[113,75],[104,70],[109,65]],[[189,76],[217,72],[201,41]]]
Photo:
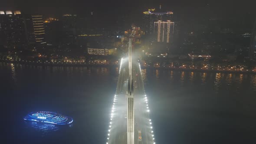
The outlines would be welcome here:
[[[106,144],[155,144],[141,67],[131,56],[131,39],[128,49],[128,57],[121,59]]]

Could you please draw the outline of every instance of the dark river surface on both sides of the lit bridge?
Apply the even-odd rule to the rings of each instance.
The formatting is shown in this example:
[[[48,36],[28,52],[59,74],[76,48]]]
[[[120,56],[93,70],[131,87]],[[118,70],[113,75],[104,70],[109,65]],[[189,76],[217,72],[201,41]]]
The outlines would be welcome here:
[[[105,144],[118,67],[0,63],[1,144]],[[256,75],[142,69],[156,144],[256,144]],[[72,125],[27,122],[55,111]],[[135,111],[136,112],[136,111]]]

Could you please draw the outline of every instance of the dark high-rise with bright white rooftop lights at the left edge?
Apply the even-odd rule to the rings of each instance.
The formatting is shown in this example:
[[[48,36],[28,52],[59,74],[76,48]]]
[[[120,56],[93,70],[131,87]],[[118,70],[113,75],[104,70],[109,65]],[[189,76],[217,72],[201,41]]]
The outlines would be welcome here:
[[[20,47],[25,43],[25,25],[21,12],[0,11],[0,45]]]

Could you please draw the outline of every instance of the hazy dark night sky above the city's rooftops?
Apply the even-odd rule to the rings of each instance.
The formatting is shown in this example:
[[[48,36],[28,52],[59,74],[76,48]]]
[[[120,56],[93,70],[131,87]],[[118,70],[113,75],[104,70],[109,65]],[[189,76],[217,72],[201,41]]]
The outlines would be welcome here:
[[[23,14],[43,14],[45,17],[61,17],[64,13],[88,16],[93,11],[101,27],[115,24],[141,26],[142,12],[162,5],[163,11],[173,11],[174,20],[185,24],[202,23],[210,18],[221,19],[223,27],[253,26],[256,16],[255,0],[1,0],[0,10],[21,10]],[[125,21],[124,21],[125,20]],[[233,26],[232,26],[233,25]],[[238,25],[238,26],[235,26]]]

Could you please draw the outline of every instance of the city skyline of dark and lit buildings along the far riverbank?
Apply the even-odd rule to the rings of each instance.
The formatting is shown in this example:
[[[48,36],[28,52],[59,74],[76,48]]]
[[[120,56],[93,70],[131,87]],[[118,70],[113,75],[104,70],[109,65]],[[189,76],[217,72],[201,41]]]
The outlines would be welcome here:
[[[46,5],[47,3],[45,1]],[[45,4],[37,8],[40,9]],[[233,16],[236,19],[232,16],[224,18],[229,14],[227,11],[223,16],[218,17],[221,10],[211,11],[217,7],[217,4],[194,3],[191,7],[197,6],[194,8],[198,10],[191,11],[190,15],[198,14],[200,10],[204,10],[205,13],[200,12],[193,17],[182,19],[183,17],[180,16],[190,9],[179,13],[175,12],[175,7],[168,7],[168,4],[170,5],[170,3],[142,4],[135,6],[133,11],[126,12],[125,10],[130,6],[121,10],[121,7],[106,5],[105,8],[111,9],[88,9],[84,10],[84,13],[79,13],[79,7],[77,7],[77,13],[61,13],[62,4],[60,4],[60,9],[56,12],[61,14],[57,17],[49,17],[47,14],[36,11],[28,14],[23,13],[22,10],[0,9],[1,37],[9,39],[5,43],[0,43],[0,46],[3,47],[3,51],[9,52],[3,54],[8,59],[46,60],[47,58],[47,61],[52,62],[86,62],[85,59],[105,56],[96,61],[103,60],[104,63],[109,63],[108,60],[112,59],[110,63],[116,63],[116,59],[125,55],[128,39],[132,38],[134,49],[143,50],[141,60],[145,63],[151,62],[154,57],[164,58],[154,61],[153,65],[158,63],[162,66],[166,63],[169,65],[172,63],[170,60],[176,59],[181,67],[190,65],[192,69],[193,55],[211,56],[209,59],[201,59],[201,63],[198,62],[200,65],[198,68],[202,69],[208,69],[208,66],[213,65],[214,62],[224,64],[226,61],[233,63],[250,61],[252,50],[249,47],[253,42],[250,39],[253,35],[253,14],[248,15],[250,17],[248,18],[245,15],[246,11],[244,13],[234,11]],[[223,6],[225,4],[227,3],[223,3]],[[154,7],[144,7],[145,5],[154,5]],[[139,7],[143,8],[138,9]],[[185,7],[186,4],[181,9]],[[226,10],[231,10],[230,7],[226,7]],[[91,9],[93,9],[93,3]],[[117,13],[116,10],[120,11]],[[136,13],[136,16],[132,16],[132,13]],[[239,18],[237,13],[244,17]],[[14,23],[13,19],[9,20],[12,17],[16,19]],[[11,23],[11,25],[4,23]],[[8,30],[8,27],[12,30]],[[20,33],[20,38],[15,38],[17,35],[14,33],[17,32]],[[17,39],[20,39],[19,43],[16,43]],[[23,50],[26,52],[23,53]],[[190,59],[191,56],[193,59]],[[77,57],[80,59],[78,60]],[[187,62],[184,63],[183,59]],[[246,65],[249,67],[249,64]],[[218,65],[214,64],[211,67],[217,69]]]

